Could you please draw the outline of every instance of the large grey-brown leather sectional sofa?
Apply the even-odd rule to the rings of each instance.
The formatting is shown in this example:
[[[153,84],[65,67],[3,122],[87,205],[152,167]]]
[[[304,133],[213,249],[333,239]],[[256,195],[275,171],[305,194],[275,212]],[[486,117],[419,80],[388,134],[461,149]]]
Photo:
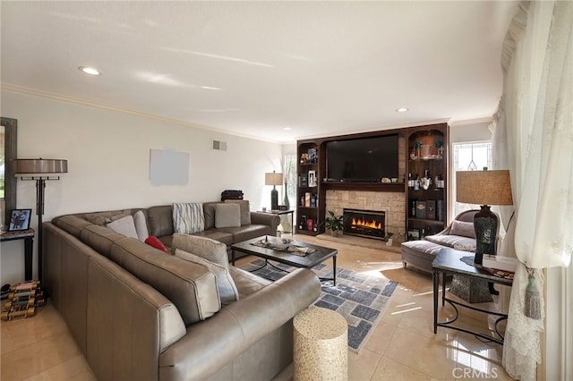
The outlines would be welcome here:
[[[174,241],[170,206],[127,213],[139,210],[150,235],[167,247],[187,240],[213,248],[238,301],[221,303],[218,277],[210,267],[170,255],[179,248],[167,254],[103,225],[126,210],[53,218],[43,225],[43,283],[96,377],[268,380],[286,368],[293,356],[292,318],[316,301],[320,281],[297,269],[270,283],[230,266],[226,247],[276,231],[277,216],[252,214],[244,229],[217,229],[204,205],[204,231]]]

